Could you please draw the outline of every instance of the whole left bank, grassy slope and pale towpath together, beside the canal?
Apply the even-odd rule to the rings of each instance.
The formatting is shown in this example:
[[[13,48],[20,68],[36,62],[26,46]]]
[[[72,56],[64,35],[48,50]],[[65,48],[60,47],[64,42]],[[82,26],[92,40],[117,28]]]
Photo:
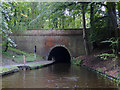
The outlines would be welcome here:
[[[35,58],[34,53],[28,53],[16,48],[9,47],[7,52],[2,50],[0,76],[12,74],[21,70],[42,68],[52,63],[52,61],[44,60],[44,58],[38,54],[36,54]]]

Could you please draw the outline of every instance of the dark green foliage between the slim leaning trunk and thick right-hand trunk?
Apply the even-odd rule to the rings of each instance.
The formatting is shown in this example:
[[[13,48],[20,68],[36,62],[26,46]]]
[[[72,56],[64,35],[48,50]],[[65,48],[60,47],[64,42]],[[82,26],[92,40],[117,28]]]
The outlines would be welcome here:
[[[100,43],[113,34],[113,24],[104,3],[93,4],[93,14],[89,33],[90,42]],[[104,8],[105,10],[102,10]]]

